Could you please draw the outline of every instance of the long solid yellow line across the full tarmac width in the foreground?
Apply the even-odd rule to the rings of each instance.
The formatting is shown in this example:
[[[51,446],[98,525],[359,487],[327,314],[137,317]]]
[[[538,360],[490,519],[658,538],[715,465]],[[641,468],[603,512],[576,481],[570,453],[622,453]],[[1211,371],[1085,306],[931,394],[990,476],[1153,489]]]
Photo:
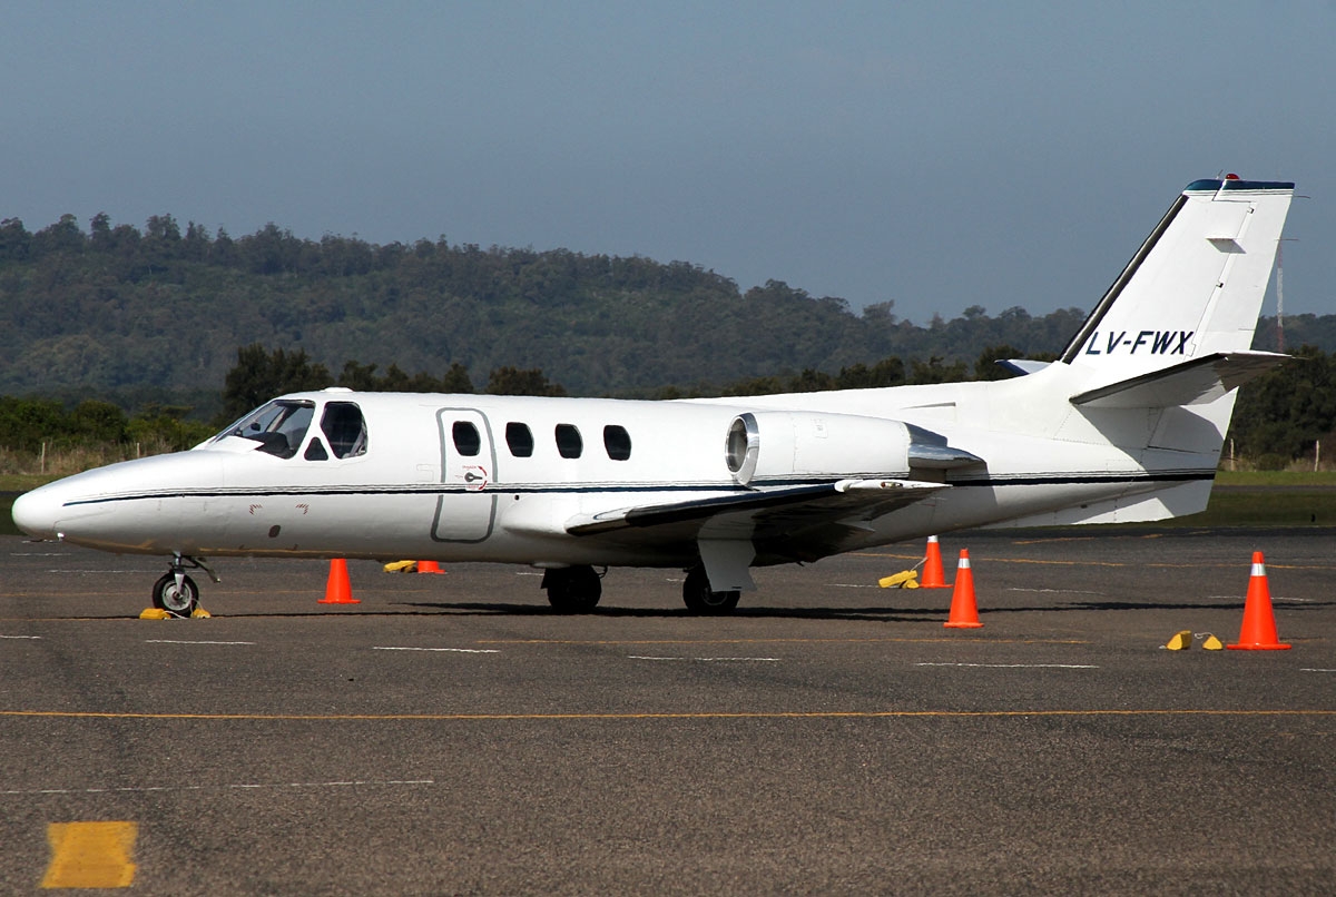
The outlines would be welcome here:
[[[661,713],[103,713],[80,710],[0,710],[0,717],[63,719],[183,719],[251,722],[489,722],[595,719],[894,719],[1010,717],[1336,717],[1336,710],[1202,710],[1202,709],[1075,709],[1075,710],[683,710]]]

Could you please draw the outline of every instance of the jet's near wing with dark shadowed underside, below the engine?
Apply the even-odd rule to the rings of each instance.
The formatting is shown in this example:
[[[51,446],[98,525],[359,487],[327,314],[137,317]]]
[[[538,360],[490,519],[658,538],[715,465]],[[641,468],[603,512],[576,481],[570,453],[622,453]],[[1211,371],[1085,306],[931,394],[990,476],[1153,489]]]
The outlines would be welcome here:
[[[867,529],[868,521],[943,489],[950,486],[842,479],[580,515],[566,521],[565,529],[572,535],[601,537],[619,545],[680,542],[689,550],[695,550],[697,539],[748,539],[759,555],[815,561],[847,539],[851,530]]]

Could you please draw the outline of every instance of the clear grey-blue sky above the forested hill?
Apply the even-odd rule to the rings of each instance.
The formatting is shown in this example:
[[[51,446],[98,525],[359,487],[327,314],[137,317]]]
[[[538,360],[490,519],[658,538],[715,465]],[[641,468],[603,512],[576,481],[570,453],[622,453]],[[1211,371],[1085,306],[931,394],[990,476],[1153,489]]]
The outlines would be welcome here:
[[[0,219],[641,255],[922,324],[1089,308],[1237,172],[1308,198],[1285,312],[1336,314],[1333,41],[1336,0],[20,0]]]

